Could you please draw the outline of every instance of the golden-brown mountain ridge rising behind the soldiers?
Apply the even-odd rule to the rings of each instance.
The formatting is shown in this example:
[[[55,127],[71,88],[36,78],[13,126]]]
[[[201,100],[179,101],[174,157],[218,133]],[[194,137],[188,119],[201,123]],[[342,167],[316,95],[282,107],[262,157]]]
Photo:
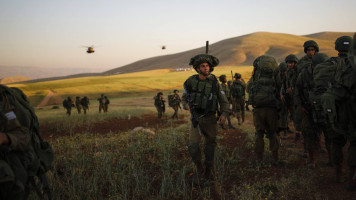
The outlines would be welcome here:
[[[299,58],[304,56],[304,42],[307,40],[315,40],[320,47],[320,52],[326,53],[329,56],[337,56],[337,52],[334,49],[335,40],[340,36],[353,36],[353,34],[353,32],[319,32],[298,36],[286,33],[255,32],[213,43],[209,46],[209,54],[219,58],[220,66],[252,65],[253,61],[263,54],[272,55],[278,62],[281,62],[284,61],[284,58],[289,54],[295,54]],[[90,73],[87,71],[85,74],[67,74],[65,77],[57,73],[56,77],[42,78],[27,82],[40,82],[86,76],[108,76],[154,69],[188,67],[190,58],[202,53],[205,53],[205,47],[138,60],[131,64],[102,73]]]

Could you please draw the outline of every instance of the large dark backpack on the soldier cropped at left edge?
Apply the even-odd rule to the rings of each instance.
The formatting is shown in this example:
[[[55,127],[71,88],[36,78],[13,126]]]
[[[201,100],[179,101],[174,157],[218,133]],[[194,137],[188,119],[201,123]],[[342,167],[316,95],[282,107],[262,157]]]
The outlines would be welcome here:
[[[0,87],[0,89],[5,91],[7,96],[9,96],[9,102],[16,108],[15,113],[17,110],[26,110],[30,114],[30,116],[21,116],[30,117],[30,119],[27,119],[30,120],[30,125],[27,127],[31,138],[29,150],[24,153],[19,153],[9,149],[8,152],[5,153],[5,157],[8,158],[8,165],[13,170],[15,177],[26,179],[22,176],[24,174],[28,175],[27,183],[23,185],[26,198],[31,192],[31,189],[34,188],[41,199],[43,199],[44,196],[47,196],[48,199],[52,199],[46,172],[52,168],[54,151],[51,145],[41,138],[38,118],[32,106],[30,106],[26,95],[17,88],[8,88],[3,85],[0,85]],[[15,159],[15,157],[13,157],[14,155],[20,158],[20,160]],[[20,170],[22,168],[18,167],[18,162],[26,163],[26,172]],[[16,184],[18,184],[18,181],[19,180],[16,180]]]

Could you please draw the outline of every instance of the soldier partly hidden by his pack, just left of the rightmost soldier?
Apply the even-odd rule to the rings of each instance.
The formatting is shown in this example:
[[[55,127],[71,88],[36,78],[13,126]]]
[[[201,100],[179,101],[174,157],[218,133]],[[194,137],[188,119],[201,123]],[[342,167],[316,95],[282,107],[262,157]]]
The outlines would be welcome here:
[[[316,164],[316,150],[320,147],[320,133],[323,132],[325,136],[325,146],[328,152],[330,152],[330,139],[327,135],[327,130],[324,124],[319,123],[319,120],[314,119],[313,99],[310,96],[315,84],[313,81],[313,70],[316,65],[325,62],[328,56],[323,53],[317,53],[312,58],[312,64],[305,68],[298,76],[296,89],[297,98],[301,102],[301,110],[304,114],[302,121],[302,132],[305,138],[305,144],[308,151],[309,162],[308,166],[315,168]],[[331,162],[331,156],[329,153],[329,163]]]

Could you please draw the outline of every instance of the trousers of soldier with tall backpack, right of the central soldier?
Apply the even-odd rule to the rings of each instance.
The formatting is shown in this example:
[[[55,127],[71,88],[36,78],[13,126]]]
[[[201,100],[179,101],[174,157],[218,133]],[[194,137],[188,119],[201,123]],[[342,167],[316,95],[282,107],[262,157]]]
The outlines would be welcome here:
[[[277,136],[277,109],[271,107],[254,108],[253,122],[256,129],[255,152],[264,152],[264,135],[266,135],[269,139],[269,149],[272,152],[278,151],[279,139]]]

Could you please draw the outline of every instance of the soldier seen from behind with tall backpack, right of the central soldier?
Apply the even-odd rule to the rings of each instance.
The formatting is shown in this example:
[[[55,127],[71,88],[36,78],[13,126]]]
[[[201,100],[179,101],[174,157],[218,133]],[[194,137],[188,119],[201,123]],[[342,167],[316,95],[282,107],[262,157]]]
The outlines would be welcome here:
[[[257,162],[261,163],[264,152],[264,135],[269,139],[272,152],[272,164],[278,164],[279,138],[278,96],[276,71],[278,64],[272,56],[259,56],[253,63],[254,69],[249,85],[249,101],[253,109],[253,121],[256,129],[255,152]]]

